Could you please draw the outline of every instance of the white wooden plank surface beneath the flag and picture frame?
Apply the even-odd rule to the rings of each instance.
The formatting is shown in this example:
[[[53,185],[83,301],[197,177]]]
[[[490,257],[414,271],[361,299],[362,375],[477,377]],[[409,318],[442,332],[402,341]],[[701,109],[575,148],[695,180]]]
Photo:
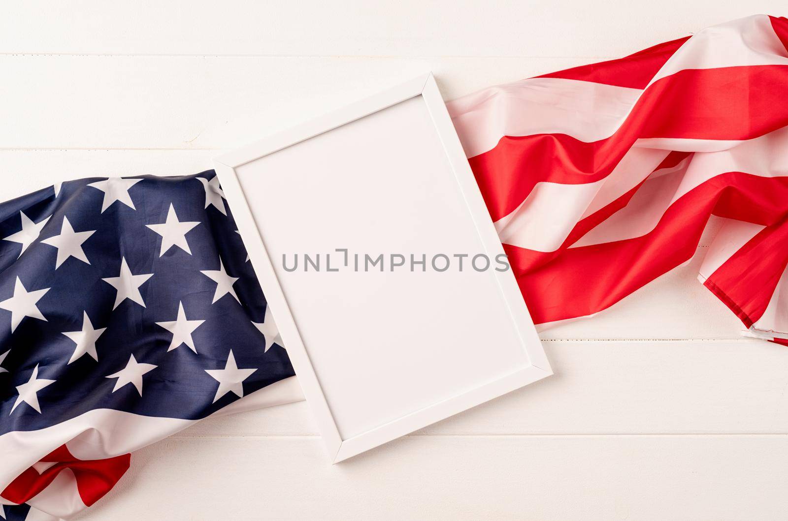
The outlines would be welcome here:
[[[786,14],[784,0],[3,8],[0,199],[199,172],[428,68],[455,98]],[[206,420],[137,453],[83,519],[785,519],[788,349],[738,338],[695,280],[713,232],[621,305],[545,331],[551,379],[334,466],[303,403]]]

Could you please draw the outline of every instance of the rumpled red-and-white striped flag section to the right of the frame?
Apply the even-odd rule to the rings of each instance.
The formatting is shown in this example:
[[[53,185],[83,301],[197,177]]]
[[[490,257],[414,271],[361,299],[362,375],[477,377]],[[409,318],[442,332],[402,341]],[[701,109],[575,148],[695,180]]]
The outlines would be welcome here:
[[[764,15],[448,104],[533,320],[693,257],[745,334],[788,338],[788,20]]]

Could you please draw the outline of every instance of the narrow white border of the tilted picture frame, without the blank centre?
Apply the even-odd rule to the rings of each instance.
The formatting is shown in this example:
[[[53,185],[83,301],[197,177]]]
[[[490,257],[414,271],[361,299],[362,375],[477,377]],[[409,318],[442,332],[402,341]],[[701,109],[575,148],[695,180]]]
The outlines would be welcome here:
[[[223,153],[214,159],[215,170],[225,198],[232,208],[238,230],[247,248],[251,264],[255,268],[260,284],[271,306],[273,320],[277,323],[284,345],[287,345],[288,356],[298,375],[303,394],[307,399],[318,430],[325,442],[325,447],[333,463],[346,460],[378,445],[390,442],[409,434],[414,430],[426,427],[441,419],[448,418],[468,408],[480,405],[485,401],[500,397],[512,390],[519,389],[532,382],[552,375],[552,369],[545,356],[541,342],[537,336],[530,314],[526,309],[522,294],[516,283],[515,276],[508,269],[495,272],[500,291],[511,312],[511,319],[517,327],[522,340],[523,349],[527,353],[530,365],[515,368],[511,373],[500,379],[479,382],[479,385],[462,394],[440,401],[429,407],[408,413],[398,419],[368,430],[348,439],[342,439],[331,409],[325,399],[320,382],[315,375],[303,339],[296,327],[296,320],[288,306],[287,299],[280,281],[277,279],[273,263],[266,251],[266,246],[259,234],[255,219],[252,216],[247,196],[240,185],[236,168],[266,155],[311,139],[326,131],[332,131],[352,121],[359,120],[370,114],[387,109],[392,105],[421,96],[424,99],[429,116],[444,146],[446,156],[469,212],[477,227],[481,242],[491,258],[504,253],[500,238],[481,198],[473,172],[459,142],[451,117],[448,114],[443,98],[440,96],[437,83],[431,72],[400,83],[369,98],[319,116],[266,139],[261,139],[238,150]]]

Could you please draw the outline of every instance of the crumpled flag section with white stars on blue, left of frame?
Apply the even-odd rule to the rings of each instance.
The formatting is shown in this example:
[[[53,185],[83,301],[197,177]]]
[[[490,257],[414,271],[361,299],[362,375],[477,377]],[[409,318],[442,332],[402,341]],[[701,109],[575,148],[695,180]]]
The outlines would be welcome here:
[[[222,195],[210,171],[0,204],[0,518],[68,518],[135,449],[277,403],[294,372]]]

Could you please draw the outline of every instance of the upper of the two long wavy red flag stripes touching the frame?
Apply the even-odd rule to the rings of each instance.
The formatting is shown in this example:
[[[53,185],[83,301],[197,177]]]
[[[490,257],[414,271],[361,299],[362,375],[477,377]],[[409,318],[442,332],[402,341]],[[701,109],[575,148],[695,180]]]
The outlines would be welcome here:
[[[608,139],[563,134],[504,136],[470,158],[492,220],[514,211],[537,183],[604,179],[639,138],[753,139],[788,125],[783,105],[788,67],[763,65],[683,70],[656,81]]]

